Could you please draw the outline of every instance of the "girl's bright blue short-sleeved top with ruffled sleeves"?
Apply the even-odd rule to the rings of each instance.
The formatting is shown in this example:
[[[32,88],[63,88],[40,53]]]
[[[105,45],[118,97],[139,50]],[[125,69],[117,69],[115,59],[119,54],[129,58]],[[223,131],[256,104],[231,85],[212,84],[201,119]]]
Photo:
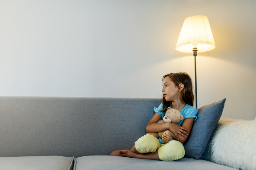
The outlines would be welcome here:
[[[170,106],[171,107],[171,106]],[[160,120],[163,120],[164,116],[165,116],[165,112],[160,112],[163,110],[163,103],[161,103],[160,106],[158,106],[158,108],[154,108],[154,111],[158,114],[161,114],[162,115],[162,118]],[[183,121],[186,119],[186,118],[194,118],[194,121],[197,119],[197,109],[186,104],[186,106],[180,111],[181,115],[183,115],[183,119],[177,124],[179,126],[182,126],[182,123]],[[160,121],[159,120],[159,121]],[[159,140],[160,143],[164,143],[161,139],[161,137],[158,137],[157,138]],[[173,140],[176,140],[173,138]]]

